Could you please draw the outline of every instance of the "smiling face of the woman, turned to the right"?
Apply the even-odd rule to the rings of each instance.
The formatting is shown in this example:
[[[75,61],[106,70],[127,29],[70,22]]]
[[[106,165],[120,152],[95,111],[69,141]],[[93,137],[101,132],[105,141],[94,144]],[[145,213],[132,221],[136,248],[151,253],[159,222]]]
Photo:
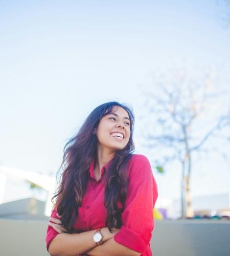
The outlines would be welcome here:
[[[112,111],[103,116],[96,130],[99,146],[110,150],[122,150],[130,138],[130,119],[126,110],[113,106]]]

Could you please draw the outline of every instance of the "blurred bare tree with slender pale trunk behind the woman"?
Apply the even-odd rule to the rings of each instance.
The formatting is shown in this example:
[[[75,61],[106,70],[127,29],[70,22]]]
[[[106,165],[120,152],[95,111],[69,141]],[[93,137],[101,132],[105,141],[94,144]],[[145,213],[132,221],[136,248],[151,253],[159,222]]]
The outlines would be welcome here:
[[[143,119],[148,118],[147,126],[151,130],[145,130],[143,137],[145,146],[158,151],[160,148],[163,154],[161,160],[155,161],[158,172],[164,172],[169,162],[179,161],[181,217],[188,218],[194,214],[190,195],[193,156],[208,152],[206,142],[229,124],[229,113],[221,114],[219,110],[217,102],[222,95],[212,92],[213,72],[199,79],[186,71],[174,74],[170,81],[162,76],[154,87],[144,92]]]

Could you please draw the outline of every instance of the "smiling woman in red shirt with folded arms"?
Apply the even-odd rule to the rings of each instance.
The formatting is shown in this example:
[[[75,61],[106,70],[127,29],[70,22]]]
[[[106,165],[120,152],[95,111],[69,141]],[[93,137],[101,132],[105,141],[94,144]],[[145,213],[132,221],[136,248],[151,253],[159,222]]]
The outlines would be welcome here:
[[[65,145],[51,255],[152,255],[157,185],[148,159],[132,154],[133,124],[127,105],[107,102]]]

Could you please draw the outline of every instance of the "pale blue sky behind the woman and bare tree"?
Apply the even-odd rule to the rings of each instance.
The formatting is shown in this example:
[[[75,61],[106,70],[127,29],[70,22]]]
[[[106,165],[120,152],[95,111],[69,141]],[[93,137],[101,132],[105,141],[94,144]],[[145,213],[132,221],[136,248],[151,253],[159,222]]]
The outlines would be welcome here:
[[[207,0],[1,1],[0,164],[55,173],[65,140],[110,100],[133,106],[138,141],[138,86],[175,67],[214,67],[218,87],[228,89],[230,29],[219,11]],[[136,153],[152,157],[138,143]],[[229,173],[218,157],[206,159],[196,166],[192,195],[228,191]],[[179,197],[176,166],[154,175],[160,196]]]

